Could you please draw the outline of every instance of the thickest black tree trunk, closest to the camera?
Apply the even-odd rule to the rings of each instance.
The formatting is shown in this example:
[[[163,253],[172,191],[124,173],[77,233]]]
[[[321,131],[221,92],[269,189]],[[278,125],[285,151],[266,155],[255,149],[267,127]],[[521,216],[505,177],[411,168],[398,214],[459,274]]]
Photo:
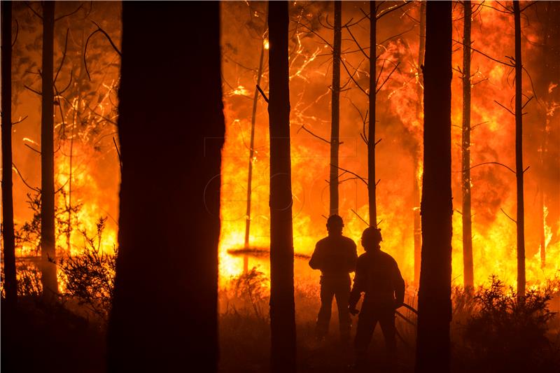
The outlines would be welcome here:
[[[219,3],[125,1],[122,40],[107,368],[215,372],[225,135]]]

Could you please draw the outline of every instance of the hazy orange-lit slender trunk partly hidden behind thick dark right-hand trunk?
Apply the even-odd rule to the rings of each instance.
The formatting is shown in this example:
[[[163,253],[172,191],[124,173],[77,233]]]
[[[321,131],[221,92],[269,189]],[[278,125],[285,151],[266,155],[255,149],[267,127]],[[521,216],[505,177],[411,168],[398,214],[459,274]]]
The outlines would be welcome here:
[[[423,75],[421,66],[424,64],[424,52],[426,49],[426,1],[420,2],[420,41],[418,48],[418,84],[416,84],[416,97],[418,97],[418,104],[416,104],[416,113],[419,120],[423,120],[421,117],[422,112],[422,99],[423,99]],[[420,144],[416,143],[414,150],[412,150],[414,168],[413,168],[413,203],[414,203],[414,285],[418,286],[420,283],[420,258],[422,250],[422,227],[420,218]]]

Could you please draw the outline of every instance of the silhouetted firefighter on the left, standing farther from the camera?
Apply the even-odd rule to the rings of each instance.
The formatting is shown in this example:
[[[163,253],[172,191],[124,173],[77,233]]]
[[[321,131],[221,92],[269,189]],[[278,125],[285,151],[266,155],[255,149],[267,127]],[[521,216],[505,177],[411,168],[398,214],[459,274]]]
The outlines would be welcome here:
[[[318,241],[309,260],[309,267],[321,269],[321,309],[317,316],[316,336],[323,339],[328,333],[332,297],[336,297],[340,337],[350,338],[350,314],[346,307],[350,295],[350,272],[356,268],[356,244],[342,235],[344,223],[338,215],[327,220],[328,237]]]

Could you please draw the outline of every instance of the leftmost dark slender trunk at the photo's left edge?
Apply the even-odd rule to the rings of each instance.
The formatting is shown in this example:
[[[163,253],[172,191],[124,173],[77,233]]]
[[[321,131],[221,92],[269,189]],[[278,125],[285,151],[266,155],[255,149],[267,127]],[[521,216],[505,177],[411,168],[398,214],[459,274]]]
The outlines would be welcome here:
[[[12,190],[12,2],[1,2],[2,14],[2,237],[6,302],[18,300],[15,279],[15,241]]]

